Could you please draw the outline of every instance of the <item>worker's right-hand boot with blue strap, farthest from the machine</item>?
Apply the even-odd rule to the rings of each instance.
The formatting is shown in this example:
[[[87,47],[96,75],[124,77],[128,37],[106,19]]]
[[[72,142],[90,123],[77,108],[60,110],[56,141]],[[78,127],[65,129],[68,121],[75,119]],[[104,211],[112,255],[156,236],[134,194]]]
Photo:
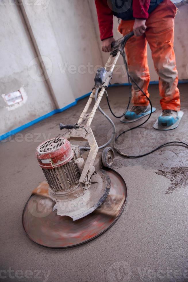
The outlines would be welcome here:
[[[163,110],[162,115],[158,118],[158,124],[171,126],[178,121],[177,111]]]

